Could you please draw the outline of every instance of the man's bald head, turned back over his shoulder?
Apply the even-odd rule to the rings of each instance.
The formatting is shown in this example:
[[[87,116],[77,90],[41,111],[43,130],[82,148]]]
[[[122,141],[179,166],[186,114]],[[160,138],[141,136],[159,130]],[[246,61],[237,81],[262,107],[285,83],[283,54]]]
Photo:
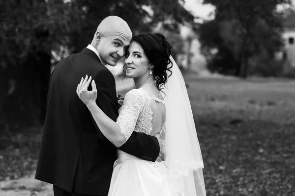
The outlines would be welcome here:
[[[91,46],[98,51],[102,64],[116,66],[131,39],[128,24],[118,16],[109,16],[98,25]]]

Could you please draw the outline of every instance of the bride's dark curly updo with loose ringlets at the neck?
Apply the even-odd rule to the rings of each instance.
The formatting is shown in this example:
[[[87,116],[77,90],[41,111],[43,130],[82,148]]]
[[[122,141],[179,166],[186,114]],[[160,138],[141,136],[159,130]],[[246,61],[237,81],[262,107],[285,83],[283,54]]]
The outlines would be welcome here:
[[[132,41],[138,43],[144,49],[149,63],[154,66],[152,73],[155,77],[155,85],[161,91],[161,86],[167,83],[167,78],[172,74],[170,69],[173,64],[169,58],[172,47],[165,37],[159,33],[136,35],[132,37]],[[170,72],[169,76],[166,71]]]

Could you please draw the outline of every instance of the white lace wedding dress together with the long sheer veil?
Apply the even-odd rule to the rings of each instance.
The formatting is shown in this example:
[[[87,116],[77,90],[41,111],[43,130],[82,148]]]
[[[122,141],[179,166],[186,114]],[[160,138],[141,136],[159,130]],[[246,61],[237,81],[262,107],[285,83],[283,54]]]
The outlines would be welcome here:
[[[206,196],[189,97],[182,74],[172,56],[170,59],[172,75],[163,89],[164,101],[143,89],[133,89],[126,94],[117,119],[126,140],[133,131],[154,135],[151,131],[161,130],[164,161],[153,163],[118,151],[108,196]],[[164,111],[163,121],[159,115]]]

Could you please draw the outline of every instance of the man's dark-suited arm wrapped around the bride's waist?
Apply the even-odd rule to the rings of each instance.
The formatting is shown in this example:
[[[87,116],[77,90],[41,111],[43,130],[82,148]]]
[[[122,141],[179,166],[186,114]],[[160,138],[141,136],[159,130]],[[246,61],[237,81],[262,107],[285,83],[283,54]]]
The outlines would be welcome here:
[[[109,118],[116,122],[118,117],[118,107],[116,98],[116,83],[113,74],[108,70],[102,70],[97,73],[93,79],[97,87],[96,104]],[[107,144],[113,145],[101,133],[93,118],[92,121],[96,127],[99,137]],[[133,132],[126,143],[119,147],[119,149],[133,156],[153,162],[156,160],[160,152],[159,142],[156,137],[139,132]]]

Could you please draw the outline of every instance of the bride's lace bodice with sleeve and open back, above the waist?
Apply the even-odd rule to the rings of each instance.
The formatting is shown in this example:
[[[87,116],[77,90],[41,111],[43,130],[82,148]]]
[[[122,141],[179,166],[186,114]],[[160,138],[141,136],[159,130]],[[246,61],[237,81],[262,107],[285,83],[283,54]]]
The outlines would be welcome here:
[[[126,139],[133,131],[156,135],[162,130],[165,121],[164,101],[143,88],[133,89],[126,94],[117,119]]]

